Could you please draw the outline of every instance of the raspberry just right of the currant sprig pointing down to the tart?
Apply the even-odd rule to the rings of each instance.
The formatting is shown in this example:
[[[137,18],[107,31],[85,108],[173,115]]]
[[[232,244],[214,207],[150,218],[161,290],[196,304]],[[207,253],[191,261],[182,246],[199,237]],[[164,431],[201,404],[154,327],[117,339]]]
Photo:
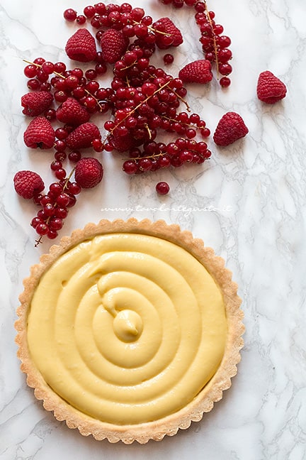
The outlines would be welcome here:
[[[82,188],[96,187],[103,177],[103,166],[96,158],[84,157],[78,161],[74,179]]]

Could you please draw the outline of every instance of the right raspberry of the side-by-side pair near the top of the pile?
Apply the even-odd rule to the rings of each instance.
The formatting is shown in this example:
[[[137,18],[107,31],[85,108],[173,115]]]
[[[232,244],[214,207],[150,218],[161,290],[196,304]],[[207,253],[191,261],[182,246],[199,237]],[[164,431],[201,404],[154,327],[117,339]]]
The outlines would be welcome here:
[[[101,50],[103,60],[113,64],[120,60],[128,48],[129,40],[121,31],[108,29],[101,36]]]

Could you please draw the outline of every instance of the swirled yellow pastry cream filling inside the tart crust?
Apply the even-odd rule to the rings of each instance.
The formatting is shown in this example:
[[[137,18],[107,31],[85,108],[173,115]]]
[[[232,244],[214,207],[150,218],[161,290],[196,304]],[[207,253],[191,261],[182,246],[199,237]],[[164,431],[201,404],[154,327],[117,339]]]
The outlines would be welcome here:
[[[57,258],[28,314],[28,348],[47,385],[116,425],[179,411],[220,366],[222,292],[186,249],[147,234],[101,234]]]

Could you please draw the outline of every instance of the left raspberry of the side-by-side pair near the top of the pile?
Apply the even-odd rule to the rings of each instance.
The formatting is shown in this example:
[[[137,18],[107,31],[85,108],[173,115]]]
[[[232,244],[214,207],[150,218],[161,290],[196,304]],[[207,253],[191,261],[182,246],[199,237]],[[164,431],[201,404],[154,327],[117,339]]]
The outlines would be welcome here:
[[[67,41],[65,50],[70,59],[91,62],[96,58],[96,40],[86,28],[79,28]]]

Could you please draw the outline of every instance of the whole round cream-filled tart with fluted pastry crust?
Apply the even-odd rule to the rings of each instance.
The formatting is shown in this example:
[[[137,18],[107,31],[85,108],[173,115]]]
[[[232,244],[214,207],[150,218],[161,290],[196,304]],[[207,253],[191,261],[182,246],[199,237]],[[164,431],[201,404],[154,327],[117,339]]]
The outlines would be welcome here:
[[[237,284],[176,224],[88,224],[41,256],[23,285],[21,370],[45,409],[84,436],[172,436],[212,410],[237,373]]]

